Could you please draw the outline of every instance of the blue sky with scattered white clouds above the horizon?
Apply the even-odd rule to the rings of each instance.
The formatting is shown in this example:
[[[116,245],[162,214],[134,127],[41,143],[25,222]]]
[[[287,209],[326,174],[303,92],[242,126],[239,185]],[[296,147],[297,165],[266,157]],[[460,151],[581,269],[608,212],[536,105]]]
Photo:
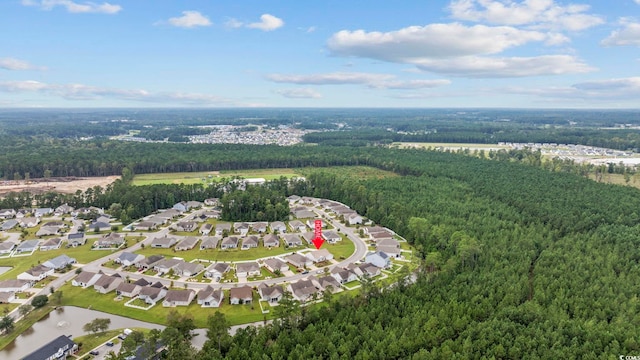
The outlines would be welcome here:
[[[640,0],[0,0],[0,108],[640,107]]]

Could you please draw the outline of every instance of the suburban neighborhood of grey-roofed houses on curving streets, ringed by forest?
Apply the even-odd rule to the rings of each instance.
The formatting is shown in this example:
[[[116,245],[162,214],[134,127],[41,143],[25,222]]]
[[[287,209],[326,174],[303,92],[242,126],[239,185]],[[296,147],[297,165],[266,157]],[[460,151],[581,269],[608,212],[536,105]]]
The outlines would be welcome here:
[[[287,200],[289,220],[273,222],[221,221],[217,199],[179,202],[127,226],[99,208],[1,209],[0,260],[38,260],[0,281],[0,303],[70,286],[116,308],[244,304],[266,314],[287,294],[311,304],[364,278],[385,279],[409,261],[404,239],[346,205]]]

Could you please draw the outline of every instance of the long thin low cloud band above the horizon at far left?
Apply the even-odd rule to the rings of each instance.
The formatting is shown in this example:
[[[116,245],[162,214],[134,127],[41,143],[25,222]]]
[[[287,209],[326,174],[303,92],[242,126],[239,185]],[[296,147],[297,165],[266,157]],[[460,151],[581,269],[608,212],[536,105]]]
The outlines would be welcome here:
[[[114,89],[83,84],[47,84],[39,81],[0,82],[0,91],[7,93],[39,92],[67,100],[118,99],[184,105],[229,105],[231,101],[216,95],[183,92],[150,92],[143,89]]]

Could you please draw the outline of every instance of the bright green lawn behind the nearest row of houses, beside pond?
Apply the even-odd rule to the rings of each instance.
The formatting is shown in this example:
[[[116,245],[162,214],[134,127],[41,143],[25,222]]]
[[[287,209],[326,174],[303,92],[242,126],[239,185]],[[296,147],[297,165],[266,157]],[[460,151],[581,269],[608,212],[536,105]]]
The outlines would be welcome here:
[[[106,295],[99,294],[93,289],[82,289],[70,284],[60,288],[64,293],[62,305],[78,306],[83,308],[91,307],[92,310],[103,311],[110,314],[126,316],[132,319],[147,321],[155,324],[166,324],[167,315],[175,310],[180,314],[193,316],[196,326],[206,327],[207,317],[219,310],[227,316],[232,325],[244,324],[254,321],[262,321],[263,314],[258,305],[258,293],[254,291],[254,305],[229,305],[229,294],[225,291],[225,301],[220,308],[202,308],[194,300],[190,306],[178,306],[175,308],[165,308],[162,304],[157,304],[150,310],[140,310],[124,306],[123,301],[113,300],[115,292]]]

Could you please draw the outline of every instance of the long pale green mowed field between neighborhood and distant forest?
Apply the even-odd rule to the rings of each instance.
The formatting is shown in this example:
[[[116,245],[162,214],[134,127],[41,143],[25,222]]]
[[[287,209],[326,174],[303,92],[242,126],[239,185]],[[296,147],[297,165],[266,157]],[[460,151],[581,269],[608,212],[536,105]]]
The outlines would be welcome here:
[[[222,178],[240,176],[246,179],[263,178],[273,180],[281,176],[290,178],[301,176],[294,169],[256,169],[238,171],[202,171],[181,173],[140,174],[133,178],[133,185],[152,184],[199,184],[217,182]],[[203,180],[204,179],[204,180]]]

